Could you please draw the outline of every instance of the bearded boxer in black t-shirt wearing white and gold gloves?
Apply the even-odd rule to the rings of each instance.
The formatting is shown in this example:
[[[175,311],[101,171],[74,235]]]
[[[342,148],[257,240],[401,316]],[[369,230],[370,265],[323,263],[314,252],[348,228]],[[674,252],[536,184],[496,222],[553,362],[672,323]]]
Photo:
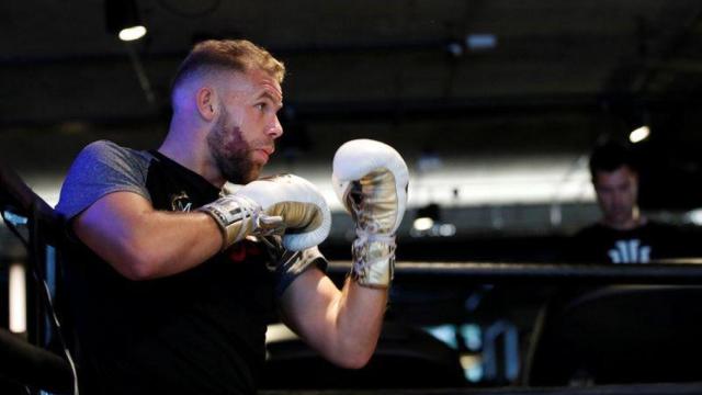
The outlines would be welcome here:
[[[358,235],[337,289],[316,248],[324,198],[292,174],[259,180],[283,133],[284,70],[247,41],[200,43],[157,150],[95,142],[72,163],[56,210],[71,236],[66,317],[84,394],[256,393],[278,314],[336,364],[373,354],[407,168],[377,142],[337,151],[335,187]]]

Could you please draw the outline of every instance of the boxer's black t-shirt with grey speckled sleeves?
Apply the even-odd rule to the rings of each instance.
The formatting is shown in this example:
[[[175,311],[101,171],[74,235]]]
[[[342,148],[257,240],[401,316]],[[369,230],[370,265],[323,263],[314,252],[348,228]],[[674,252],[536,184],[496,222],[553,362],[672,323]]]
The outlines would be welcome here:
[[[157,151],[98,142],[73,162],[57,211],[70,219],[115,191],[138,193],[163,211],[194,210],[220,192]],[[262,244],[250,240],[192,270],[148,281],[125,279],[78,240],[64,253],[86,394],[254,393],[276,297],[303,271],[281,270]],[[299,260],[295,267],[305,268]]]

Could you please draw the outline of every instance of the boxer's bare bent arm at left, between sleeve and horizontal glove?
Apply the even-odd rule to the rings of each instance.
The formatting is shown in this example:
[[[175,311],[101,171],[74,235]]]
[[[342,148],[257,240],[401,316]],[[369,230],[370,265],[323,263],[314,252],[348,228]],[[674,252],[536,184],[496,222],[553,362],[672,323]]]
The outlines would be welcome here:
[[[169,213],[132,192],[104,195],[76,216],[78,238],[131,280],[147,280],[196,267],[222,247],[222,234],[205,213]]]

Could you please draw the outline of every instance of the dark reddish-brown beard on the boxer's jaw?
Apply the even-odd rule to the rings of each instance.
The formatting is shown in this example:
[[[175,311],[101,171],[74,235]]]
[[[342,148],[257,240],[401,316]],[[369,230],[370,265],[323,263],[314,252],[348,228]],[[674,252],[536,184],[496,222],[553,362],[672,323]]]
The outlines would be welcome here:
[[[219,173],[226,181],[246,184],[259,177],[261,166],[249,158],[250,147],[239,127],[229,126],[229,113],[219,108],[219,117],[207,135],[207,145]],[[231,133],[227,133],[230,127]]]

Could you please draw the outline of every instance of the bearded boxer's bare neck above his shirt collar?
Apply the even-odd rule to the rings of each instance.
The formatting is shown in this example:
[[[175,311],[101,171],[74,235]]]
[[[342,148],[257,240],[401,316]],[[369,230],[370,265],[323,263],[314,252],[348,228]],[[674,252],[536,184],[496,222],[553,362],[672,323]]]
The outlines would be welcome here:
[[[168,135],[158,151],[202,176],[213,185],[222,188],[225,180],[207,149],[206,131],[176,125],[185,125],[185,123],[176,120],[171,122]]]

